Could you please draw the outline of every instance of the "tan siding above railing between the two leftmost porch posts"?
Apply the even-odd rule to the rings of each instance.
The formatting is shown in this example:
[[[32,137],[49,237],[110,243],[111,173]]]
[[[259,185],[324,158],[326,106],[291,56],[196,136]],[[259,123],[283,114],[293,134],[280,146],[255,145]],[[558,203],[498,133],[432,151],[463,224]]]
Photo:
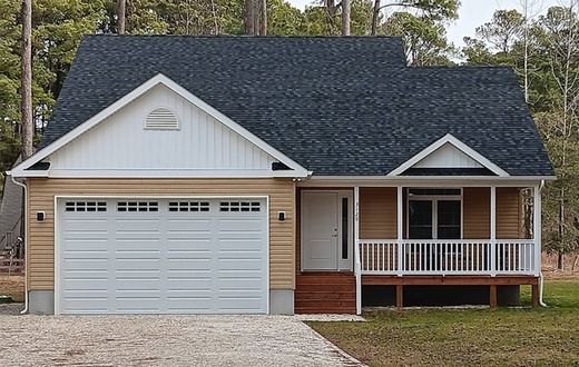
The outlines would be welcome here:
[[[396,188],[360,189],[360,238],[396,238]]]

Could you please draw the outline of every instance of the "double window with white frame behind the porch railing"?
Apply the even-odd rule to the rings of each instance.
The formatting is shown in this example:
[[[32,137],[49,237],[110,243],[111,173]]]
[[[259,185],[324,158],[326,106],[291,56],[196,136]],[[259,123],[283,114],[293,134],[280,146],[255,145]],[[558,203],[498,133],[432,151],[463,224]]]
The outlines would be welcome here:
[[[409,239],[460,239],[461,189],[408,189]]]

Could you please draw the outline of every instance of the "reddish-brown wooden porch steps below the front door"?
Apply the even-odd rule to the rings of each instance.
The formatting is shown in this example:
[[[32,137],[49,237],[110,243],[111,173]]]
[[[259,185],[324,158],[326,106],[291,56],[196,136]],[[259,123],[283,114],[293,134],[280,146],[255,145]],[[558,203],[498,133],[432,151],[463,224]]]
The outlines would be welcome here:
[[[355,314],[353,272],[302,272],[296,277],[296,314]]]

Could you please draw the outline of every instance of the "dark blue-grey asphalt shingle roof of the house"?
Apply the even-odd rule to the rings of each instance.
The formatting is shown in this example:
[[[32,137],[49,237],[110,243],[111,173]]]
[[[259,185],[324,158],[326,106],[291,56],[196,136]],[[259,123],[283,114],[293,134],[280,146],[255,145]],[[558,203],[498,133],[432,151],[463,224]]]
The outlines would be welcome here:
[[[448,132],[553,175],[511,69],[409,68],[387,37],[89,36],[41,146],[159,72],[314,175],[385,175]]]

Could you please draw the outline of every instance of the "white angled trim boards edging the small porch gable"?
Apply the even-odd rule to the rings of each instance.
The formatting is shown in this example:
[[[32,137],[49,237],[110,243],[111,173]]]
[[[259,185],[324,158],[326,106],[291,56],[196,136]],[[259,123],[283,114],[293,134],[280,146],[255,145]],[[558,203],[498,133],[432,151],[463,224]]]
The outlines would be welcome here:
[[[489,169],[491,172],[495,173],[499,177],[509,177],[510,175],[493,163],[491,160],[489,160],[487,157],[482,156],[471,147],[467,146],[464,142],[457,139],[451,133],[446,133],[439,140],[434,141],[426,148],[422,149],[419,153],[416,153],[414,157],[406,160],[404,163],[400,165],[398,168],[393,169],[387,176],[400,176],[403,173],[406,169],[414,167],[416,163],[422,161],[424,158],[432,155],[434,151],[436,151],[439,148],[444,146],[445,143],[450,143],[460,151],[462,151],[464,155],[472,158],[474,161],[479,162],[484,168]]]

